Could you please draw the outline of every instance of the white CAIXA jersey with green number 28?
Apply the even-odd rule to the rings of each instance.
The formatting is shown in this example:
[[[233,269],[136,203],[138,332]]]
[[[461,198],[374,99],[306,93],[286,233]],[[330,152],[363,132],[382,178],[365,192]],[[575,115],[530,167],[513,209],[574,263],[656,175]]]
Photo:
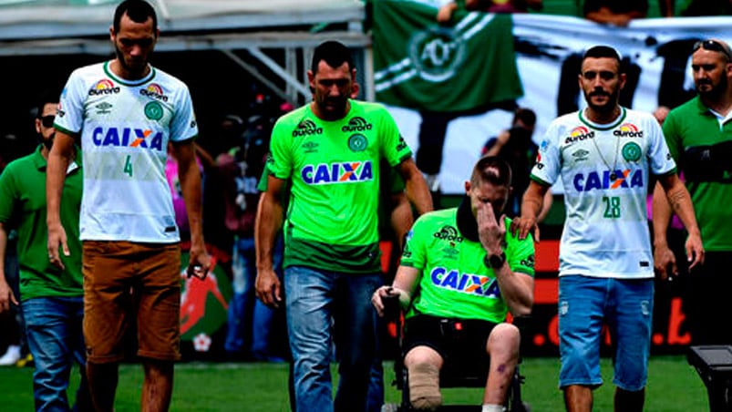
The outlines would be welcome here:
[[[647,113],[621,108],[609,124],[583,110],[552,121],[531,179],[562,178],[566,221],[560,275],[652,278],[646,195],[649,171],[675,171],[663,132]]]

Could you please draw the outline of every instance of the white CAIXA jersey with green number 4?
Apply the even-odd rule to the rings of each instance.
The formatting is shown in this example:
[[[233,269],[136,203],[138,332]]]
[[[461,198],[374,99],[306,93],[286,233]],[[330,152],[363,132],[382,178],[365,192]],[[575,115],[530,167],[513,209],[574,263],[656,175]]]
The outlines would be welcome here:
[[[129,81],[109,62],[80,67],[61,95],[56,127],[81,135],[81,240],[180,241],[165,160],[169,140],[198,134],[185,84],[155,68]]]

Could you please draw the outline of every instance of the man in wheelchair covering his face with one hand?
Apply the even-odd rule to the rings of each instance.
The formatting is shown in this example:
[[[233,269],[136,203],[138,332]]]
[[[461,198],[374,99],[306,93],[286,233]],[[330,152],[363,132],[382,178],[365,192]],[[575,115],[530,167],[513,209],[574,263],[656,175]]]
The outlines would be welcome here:
[[[380,315],[389,296],[398,296],[406,311],[404,365],[415,409],[442,404],[443,367],[482,357],[490,358],[482,410],[504,410],[521,340],[506,316],[509,310],[513,316],[531,313],[534,286],[533,241],[507,232],[510,219],[502,214],[510,180],[508,163],[480,159],[459,207],[415,222],[394,283],[372,296]]]

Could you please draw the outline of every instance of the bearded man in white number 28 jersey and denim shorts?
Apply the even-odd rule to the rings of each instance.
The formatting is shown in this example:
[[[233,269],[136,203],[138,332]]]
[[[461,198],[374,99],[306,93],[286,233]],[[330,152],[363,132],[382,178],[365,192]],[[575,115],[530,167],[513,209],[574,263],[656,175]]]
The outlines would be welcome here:
[[[654,264],[645,196],[654,173],[689,232],[691,265],[704,258],[694,210],[658,122],[618,104],[625,74],[608,46],[593,46],[578,77],[587,108],[552,121],[541,142],[521,218],[536,228],[543,194],[561,178],[567,220],[560,246],[560,387],[568,411],[590,411],[602,385],[603,323],[613,340],[615,410],[641,411],[650,352]]]

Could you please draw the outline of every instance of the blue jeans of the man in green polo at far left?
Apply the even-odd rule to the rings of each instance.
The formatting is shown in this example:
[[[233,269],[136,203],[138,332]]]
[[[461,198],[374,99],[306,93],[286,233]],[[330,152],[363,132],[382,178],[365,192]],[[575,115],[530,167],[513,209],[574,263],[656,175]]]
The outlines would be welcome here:
[[[36,363],[33,397],[36,411],[67,411],[68,378],[74,361],[81,382],[74,410],[92,410],[82,333],[84,300],[78,297],[39,297],[21,304],[26,319],[28,347]]]

